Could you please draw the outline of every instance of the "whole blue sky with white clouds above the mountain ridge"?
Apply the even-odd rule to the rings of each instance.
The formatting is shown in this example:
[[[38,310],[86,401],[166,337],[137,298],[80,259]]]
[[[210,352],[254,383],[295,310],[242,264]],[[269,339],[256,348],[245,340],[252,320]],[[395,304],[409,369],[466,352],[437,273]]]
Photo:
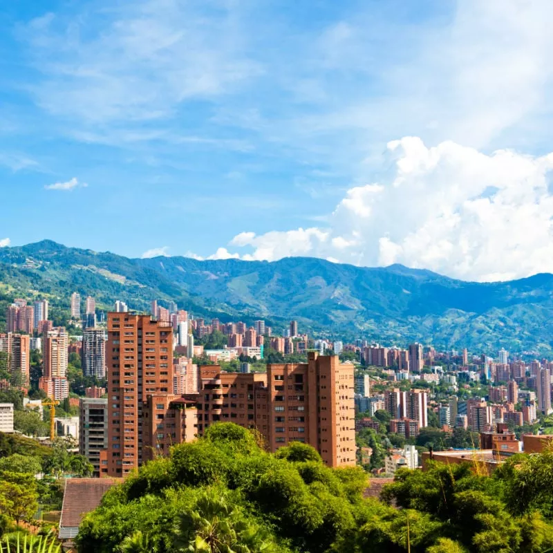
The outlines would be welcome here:
[[[553,272],[550,0],[18,0],[0,247]]]

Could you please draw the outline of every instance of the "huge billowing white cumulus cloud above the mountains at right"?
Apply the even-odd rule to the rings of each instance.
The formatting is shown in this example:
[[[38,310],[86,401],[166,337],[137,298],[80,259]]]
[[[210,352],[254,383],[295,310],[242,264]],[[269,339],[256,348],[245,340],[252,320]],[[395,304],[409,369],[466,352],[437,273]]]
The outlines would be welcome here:
[[[243,232],[231,245],[251,250],[242,259],[403,263],[465,280],[553,272],[553,153],[487,154],[408,136],[389,142],[387,156],[393,170],[349,189],[328,227]]]

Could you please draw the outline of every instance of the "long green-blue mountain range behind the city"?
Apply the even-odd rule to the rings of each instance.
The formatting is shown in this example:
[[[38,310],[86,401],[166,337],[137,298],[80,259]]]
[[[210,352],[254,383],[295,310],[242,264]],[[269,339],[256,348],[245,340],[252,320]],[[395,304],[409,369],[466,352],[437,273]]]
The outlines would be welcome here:
[[[106,308],[122,299],[142,310],[158,298],[223,321],[263,318],[280,327],[294,318],[304,330],[328,337],[553,352],[552,274],[474,283],[403,265],[364,268],[302,257],[272,263],[128,259],[52,241],[0,248],[4,303],[31,292],[68,306],[75,290]]]

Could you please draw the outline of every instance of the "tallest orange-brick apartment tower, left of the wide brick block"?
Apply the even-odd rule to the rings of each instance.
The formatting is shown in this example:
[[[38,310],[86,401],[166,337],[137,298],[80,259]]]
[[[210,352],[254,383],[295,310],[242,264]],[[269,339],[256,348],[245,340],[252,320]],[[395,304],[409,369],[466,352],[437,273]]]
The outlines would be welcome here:
[[[151,395],[173,390],[173,330],[149,315],[108,314],[109,476],[142,465],[142,410]]]

